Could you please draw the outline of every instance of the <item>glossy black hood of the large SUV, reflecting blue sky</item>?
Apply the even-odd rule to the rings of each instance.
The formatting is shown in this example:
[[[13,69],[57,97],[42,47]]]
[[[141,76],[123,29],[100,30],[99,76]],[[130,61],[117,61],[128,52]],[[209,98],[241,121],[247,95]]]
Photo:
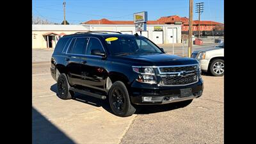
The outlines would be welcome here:
[[[198,61],[196,61],[193,58],[183,58],[177,55],[170,55],[170,54],[127,55],[127,56],[122,56],[122,58],[126,60],[134,61],[136,65],[147,65],[148,63],[151,63],[152,65],[155,65],[155,66],[164,66],[164,65],[190,65],[190,64],[198,63]],[[145,63],[143,63],[143,61],[145,61]]]

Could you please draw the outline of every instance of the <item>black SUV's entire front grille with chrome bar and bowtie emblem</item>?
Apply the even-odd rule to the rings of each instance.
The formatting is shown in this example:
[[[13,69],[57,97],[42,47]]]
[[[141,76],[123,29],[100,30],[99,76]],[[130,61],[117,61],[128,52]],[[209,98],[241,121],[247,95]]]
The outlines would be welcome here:
[[[164,85],[184,85],[198,81],[198,65],[159,67]]]

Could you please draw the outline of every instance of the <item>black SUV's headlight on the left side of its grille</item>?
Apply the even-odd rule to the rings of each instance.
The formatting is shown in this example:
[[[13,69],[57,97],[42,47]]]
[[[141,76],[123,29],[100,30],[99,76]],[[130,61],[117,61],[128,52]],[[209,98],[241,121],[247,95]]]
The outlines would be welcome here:
[[[132,70],[139,74],[138,82],[141,83],[156,83],[156,74],[152,67],[136,67],[132,66]]]

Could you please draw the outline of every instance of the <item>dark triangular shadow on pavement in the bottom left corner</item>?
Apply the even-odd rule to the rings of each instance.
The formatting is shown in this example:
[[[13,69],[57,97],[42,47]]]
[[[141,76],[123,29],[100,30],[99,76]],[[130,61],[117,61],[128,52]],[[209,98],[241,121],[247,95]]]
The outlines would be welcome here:
[[[32,108],[32,143],[72,144],[74,141]]]

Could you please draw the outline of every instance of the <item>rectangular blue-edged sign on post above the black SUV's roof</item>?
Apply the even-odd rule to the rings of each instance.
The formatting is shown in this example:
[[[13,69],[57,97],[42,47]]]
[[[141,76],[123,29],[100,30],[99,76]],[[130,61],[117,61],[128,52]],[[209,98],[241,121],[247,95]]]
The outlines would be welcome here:
[[[135,31],[147,31],[148,12],[139,12],[133,14]]]

